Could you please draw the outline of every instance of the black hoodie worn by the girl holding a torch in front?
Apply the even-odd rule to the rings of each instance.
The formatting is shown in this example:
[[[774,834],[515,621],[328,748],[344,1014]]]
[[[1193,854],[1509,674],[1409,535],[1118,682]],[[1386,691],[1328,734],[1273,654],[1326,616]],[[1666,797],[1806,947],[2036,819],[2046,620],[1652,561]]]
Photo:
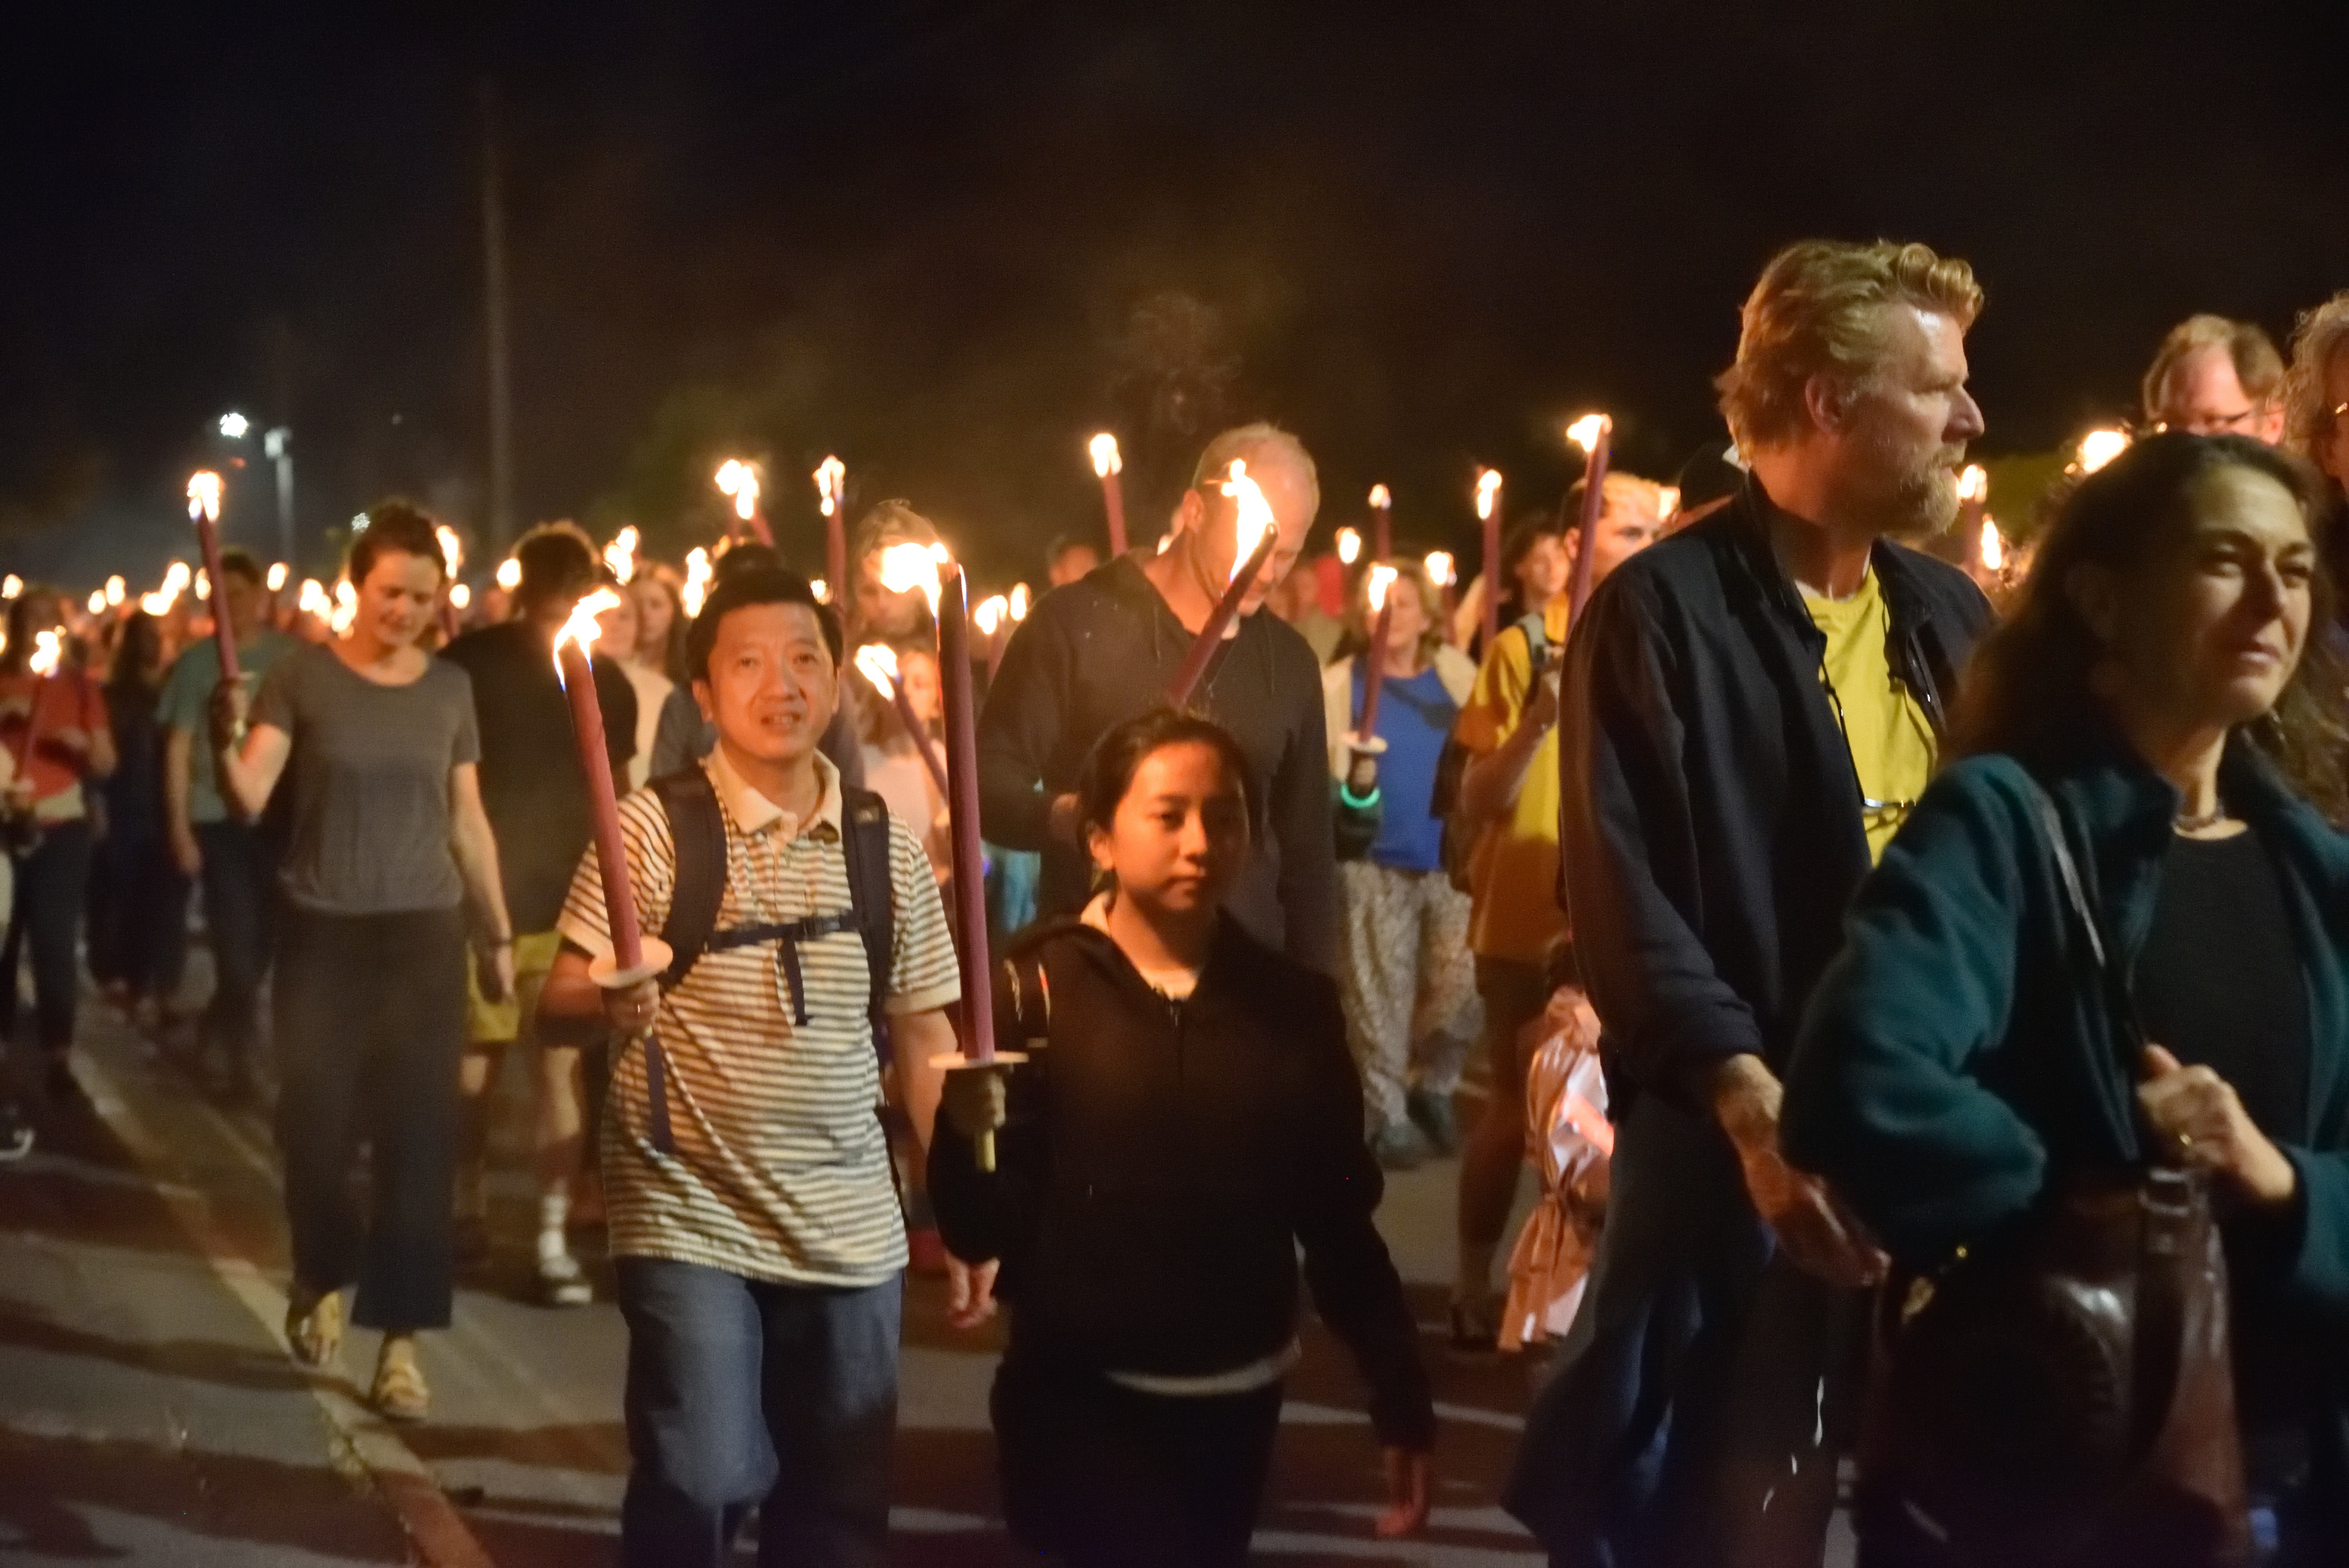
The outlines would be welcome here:
[[[1019,984],[1043,972],[1048,1035]],[[1362,1087],[1337,984],[1217,930],[1198,988],[1153,991],[1106,934],[1062,920],[998,967],[1010,1068],[996,1169],[944,1117],[930,1197],[947,1246],[1001,1258],[1012,1347],[1092,1371],[1170,1378],[1280,1354],[1297,1331],[1297,1249],[1325,1324],[1369,1383],[1379,1439],[1435,1432],[1419,1331],[1372,1214]]]

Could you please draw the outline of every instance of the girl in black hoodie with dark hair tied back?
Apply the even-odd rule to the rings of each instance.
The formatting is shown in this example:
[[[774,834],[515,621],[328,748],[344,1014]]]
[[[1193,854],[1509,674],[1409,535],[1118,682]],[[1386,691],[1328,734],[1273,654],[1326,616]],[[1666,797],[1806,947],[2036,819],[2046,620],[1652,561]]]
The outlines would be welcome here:
[[[1247,761],[1214,723],[1153,711],[1102,737],[1078,800],[1104,892],[1003,960],[996,1038],[1031,1061],[949,1073],[930,1148],[947,1246],[1003,1265],[1010,1528],[1069,1568],[1243,1563],[1301,1246],[1372,1390],[1379,1535],[1407,1535],[1435,1408],[1372,1225],[1381,1178],[1337,986],[1219,911],[1250,847]]]

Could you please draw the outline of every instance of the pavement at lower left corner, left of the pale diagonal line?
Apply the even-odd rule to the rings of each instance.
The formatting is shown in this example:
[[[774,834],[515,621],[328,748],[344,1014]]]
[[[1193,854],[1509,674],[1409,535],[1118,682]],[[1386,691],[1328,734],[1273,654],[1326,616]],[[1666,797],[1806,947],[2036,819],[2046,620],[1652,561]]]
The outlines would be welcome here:
[[[204,1256],[221,1171],[155,1185],[92,1108],[40,1134],[0,1167],[0,1561],[420,1561],[251,1261]]]

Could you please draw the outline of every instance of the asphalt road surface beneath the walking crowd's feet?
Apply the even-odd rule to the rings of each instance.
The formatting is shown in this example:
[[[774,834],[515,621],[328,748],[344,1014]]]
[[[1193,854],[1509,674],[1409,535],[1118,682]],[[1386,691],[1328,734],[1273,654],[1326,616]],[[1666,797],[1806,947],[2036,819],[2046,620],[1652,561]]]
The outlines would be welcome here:
[[[392,1430],[355,1387],[371,1336],[352,1333],[338,1373],[284,1357],[265,1122],[214,1108],[94,998],[78,1075],[89,1103],[45,1110],[40,1150],[0,1167],[0,1563],[615,1561],[625,1331],[608,1289],[583,1310],[531,1303],[519,1150],[493,1188],[498,1246],[463,1282],[456,1326],[423,1345],[432,1420]],[[1494,1505],[1529,1368],[1442,1347],[1449,1216],[1449,1162],[1395,1178],[1379,1216],[1428,1331],[1442,1415],[1433,1528],[1369,1537],[1379,1476],[1360,1385],[1308,1326],[1259,1561],[1539,1563]],[[996,1505],[994,1354],[991,1333],[947,1329],[940,1282],[911,1279],[900,1563],[1027,1561]]]

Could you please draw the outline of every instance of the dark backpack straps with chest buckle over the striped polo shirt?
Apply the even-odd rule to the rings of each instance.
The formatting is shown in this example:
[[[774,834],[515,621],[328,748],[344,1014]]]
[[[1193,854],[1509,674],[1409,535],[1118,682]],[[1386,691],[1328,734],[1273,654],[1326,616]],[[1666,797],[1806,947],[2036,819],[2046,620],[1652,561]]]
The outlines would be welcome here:
[[[674,958],[660,976],[662,991],[677,991],[693,974],[702,953],[778,944],[775,960],[792,993],[792,1021],[808,1021],[808,984],[799,967],[799,944],[834,932],[864,939],[864,965],[871,969],[871,993],[864,1002],[874,1026],[874,1052],[888,1063],[888,972],[897,944],[897,892],[888,869],[888,803],[869,789],[841,786],[841,850],[848,857],[848,908],[832,915],[808,915],[787,925],[735,925],[719,930],[719,904],[726,897],[726,815],[719,793],[700,765],[679,768],[648,784],[669,817],[669,840],[677,845],[677,885],[669,894],[669,918],[660,939]],[[665,1087],[660,1038],[644,1038],[644,1087],[653,1122],[653,1148],[674,1153],[669,1138],[669,1099]]]

